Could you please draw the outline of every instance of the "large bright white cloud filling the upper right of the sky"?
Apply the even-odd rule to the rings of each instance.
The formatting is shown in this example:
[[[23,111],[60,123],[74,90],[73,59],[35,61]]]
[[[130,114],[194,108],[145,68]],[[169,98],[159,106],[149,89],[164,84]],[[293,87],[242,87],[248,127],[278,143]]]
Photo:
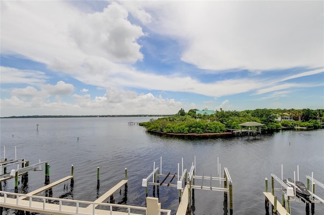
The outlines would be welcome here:
[[[145,2],[138,8],[154,15],[147,24],[152,31],[182,41],[182,61],[201,69],[323,67],[320,1]]]

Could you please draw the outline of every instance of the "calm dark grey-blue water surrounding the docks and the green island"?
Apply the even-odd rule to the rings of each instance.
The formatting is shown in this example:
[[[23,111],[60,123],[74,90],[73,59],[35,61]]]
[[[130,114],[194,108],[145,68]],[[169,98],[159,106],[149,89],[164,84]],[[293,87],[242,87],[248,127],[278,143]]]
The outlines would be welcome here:
[[[124,179],[128,169],[127,204],[145,206],[145,189],[142,179],[159,166],[163,158],[163,174],[184,168],[190,169],[196,156],[196,175],[217,177],[217,157],[221,167],[227,167],[233,180],[233,213],[265,214],[264,179],[271,173],[284,178],[294,178],[299,165],[299,179],[306,184],[306,175],[324,183],[324,130],[282,131],[271,135],[237,138],[184,140],[160,137],[145,132],[129,121],[146,122],[150,118],[53,118],[53,119],[1,119],[1,157],[3,146],[6,156],[26,158],[29,164],[47,160],[51,165],[50,180],[54,182],[70,174],[74,166],[73,196],[67,198],[93,201]],[[39,124],[36,131],[36,124]],[[14,135],[14,136],[12,136]],[[77,137],[79,140],[77,140]],[[100,190],[97,193],[97,167],[100,167]],[[29,173],[29,190],[44,185],[45,172]],[[297,179],[297,176],[296,176]],[[201,183],[201,182],[200,182]],[[204,182],[205,183],[205,182]],[[205,184],[208,184],[207,182]],[[204,184],[204,186],[205,186]],[[65,193],[63,183],[53,188],[53,197]],[[214,186],[214,185],[213,185]],[[217,186],[217,184],[215,184]],[[278,184],[277,184],[278,186]],[[3,184],[3,189],[13,191],[14,180]],[[281,198],[281,192],[275,194]],[[316,194],[324,198],[324,190],[317,187]],[[149,196],[151,187],[149,188]],[[123,193],[115,193],[116,202]],[[161,187],[162,208],[178,207],[178,190]],[[223,193],[196,190],[193,214],[227,214],[223,209]],[[305,205],[291,203],[292,214],[305,214]],[[324,205],[315,205],[315,214],[324,214]],[[13,210],[6,210],[11,214]],[[228,213],[229,214],[229,213]]]

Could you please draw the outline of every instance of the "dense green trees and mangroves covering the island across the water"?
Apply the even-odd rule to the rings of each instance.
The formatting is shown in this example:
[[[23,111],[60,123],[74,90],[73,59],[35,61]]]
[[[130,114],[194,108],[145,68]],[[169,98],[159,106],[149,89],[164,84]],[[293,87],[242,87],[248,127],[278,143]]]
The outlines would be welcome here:
[[[215,114],[196,114],[197,109],[185,112],[180,109],[177,114],[170,117],[151,119],[139,125],[145,126],[147,131],[165,133],[221,133],[228,129],[240,129],[239,124],[245,122],[258,122],[264,124],[263,131],[278,130],[282,127],[307,127],[317,129],[324,121],[324,109],[256,109],[245,111],[216,111]],[[292,120],[284,121],[282,117],[288,116]],[[281,118],[281,120],[277,120]]]

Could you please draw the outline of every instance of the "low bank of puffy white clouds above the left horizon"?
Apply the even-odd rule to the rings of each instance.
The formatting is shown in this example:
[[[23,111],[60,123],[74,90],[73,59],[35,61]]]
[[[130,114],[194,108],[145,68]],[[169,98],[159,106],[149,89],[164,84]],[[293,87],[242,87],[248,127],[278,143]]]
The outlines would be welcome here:
[[[137,94],[113,87],[108,88],[104,95],[93,99],[90,94],[73,94],[74,102],[71,103],[62,101],[58,96],[54,102],[49,101],[45,91],[37,91],[32,87],[13,92],[11,98],[0,100],[2,116],[15,116],[21,108],[26,108],[24,115],[175,114],[182,108],[182,103],[175,99],[160,95],[156,97],[151,93]]]

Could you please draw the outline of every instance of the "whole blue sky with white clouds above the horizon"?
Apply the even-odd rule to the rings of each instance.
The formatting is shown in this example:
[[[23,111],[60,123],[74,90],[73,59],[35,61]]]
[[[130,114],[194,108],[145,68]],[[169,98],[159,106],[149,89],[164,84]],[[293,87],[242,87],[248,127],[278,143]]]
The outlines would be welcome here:
[[[0,117],[324,108],[323,1],[0,6]]]

